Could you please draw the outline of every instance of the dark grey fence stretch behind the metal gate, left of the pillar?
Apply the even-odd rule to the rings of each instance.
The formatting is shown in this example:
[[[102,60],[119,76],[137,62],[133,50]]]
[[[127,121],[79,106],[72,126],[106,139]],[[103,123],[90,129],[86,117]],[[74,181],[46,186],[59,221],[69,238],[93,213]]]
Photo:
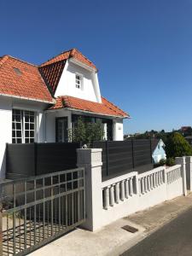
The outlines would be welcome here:
[[[7,144],[7,178],[30,177],[77,167],[80,143]]]

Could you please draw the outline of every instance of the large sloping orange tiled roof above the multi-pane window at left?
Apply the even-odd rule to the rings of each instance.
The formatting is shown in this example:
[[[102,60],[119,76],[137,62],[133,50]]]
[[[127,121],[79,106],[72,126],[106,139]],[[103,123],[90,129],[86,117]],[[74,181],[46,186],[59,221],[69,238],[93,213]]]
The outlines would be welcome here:
[[[38,67],[9,55],[0,59],[0,94],[53,102]]]

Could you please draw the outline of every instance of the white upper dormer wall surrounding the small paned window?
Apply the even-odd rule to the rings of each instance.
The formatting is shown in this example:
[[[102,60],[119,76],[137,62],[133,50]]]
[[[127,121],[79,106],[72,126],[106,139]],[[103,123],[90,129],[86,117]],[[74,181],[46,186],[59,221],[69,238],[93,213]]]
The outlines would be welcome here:
[[[76,88],[75,74],[83,75],[83,88]],[[55,96],[74,96],[91,102],[101,102],[101,94],[97,74],[79,67],[70,61],[67,61],[61,74],[60,82],[55,91]]]

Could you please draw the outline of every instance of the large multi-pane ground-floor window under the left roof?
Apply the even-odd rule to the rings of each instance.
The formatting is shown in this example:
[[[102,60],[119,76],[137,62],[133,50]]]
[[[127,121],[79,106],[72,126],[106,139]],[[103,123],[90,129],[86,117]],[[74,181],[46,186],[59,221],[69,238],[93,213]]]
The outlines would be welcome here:
[[[12,143],[34,143],[35,113],[13,109],[12,112]]]

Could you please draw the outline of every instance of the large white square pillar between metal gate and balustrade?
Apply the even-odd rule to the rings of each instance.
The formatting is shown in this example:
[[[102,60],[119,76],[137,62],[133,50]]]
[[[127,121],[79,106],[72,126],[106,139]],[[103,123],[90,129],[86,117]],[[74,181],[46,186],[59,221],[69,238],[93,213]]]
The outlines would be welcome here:
[[[102,148],[78,148],[78,167],[85,170],[86,221],[82,224],[94,231],[102,226]]]

